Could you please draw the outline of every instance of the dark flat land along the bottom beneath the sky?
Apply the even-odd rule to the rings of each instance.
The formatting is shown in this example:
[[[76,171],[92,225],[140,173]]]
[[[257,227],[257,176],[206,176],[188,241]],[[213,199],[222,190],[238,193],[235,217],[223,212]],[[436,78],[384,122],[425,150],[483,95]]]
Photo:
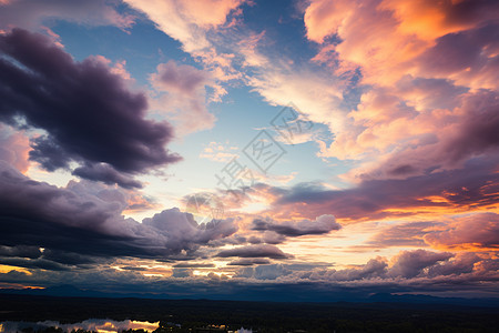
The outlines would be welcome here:
[[[88,319],[161,321],[163,329],[157,333],[195,332],[206,325],[244,326],[262,333],[498,332],[499,307],[400,301],[283,303],[0,294],[0,322],[77,323]]]

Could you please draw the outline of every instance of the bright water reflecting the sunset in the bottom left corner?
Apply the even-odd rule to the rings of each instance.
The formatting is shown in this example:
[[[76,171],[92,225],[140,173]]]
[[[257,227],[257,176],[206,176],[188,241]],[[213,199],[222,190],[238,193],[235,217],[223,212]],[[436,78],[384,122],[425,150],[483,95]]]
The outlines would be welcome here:
[[[94,331],[99,333],[114,333],[121,332],[124,330],[145,330],[152,332],[157,329],[160,322],[150,323],[150,322],[139,322],[139,321],[112,321],[112,320],[98,320],[90,319],[85,320],[81,323],[75,324],[61,324],[54,321],[44,321],[44,322],[2,322],[0,323],[0,332],[3,333],[16,333],[20,332],[23,329],[32,327],[34,331],[43,330],[47,327],[61,327],[64,332],[71,332],[72,330],[82,329],[85,331]]]

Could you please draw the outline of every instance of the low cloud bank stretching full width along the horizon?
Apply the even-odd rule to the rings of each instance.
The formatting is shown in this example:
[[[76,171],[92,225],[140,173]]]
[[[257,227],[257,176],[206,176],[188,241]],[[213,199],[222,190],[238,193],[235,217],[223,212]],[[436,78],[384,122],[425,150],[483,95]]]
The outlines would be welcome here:
[[[170,297],[174,294],[182,299],[198,299],[203,295],[210,299],[232,296],[274,301],[276,297],[285,301],[296,301],[298,297],[308,301],[330,301],[338,297],[365,300],[378,292],[495,295],[498,261],[493,255],[480,256],[461,253],[449,258],[439,252],[403,251],[391,260],[377,256],[366,264],[343,270],[324,270],[314,264],[263,264],[234,272],[231,266],[234,278],[224,281],[194,275],[189,268],[176,268],[177,278],[171,276],[170,270],[163,276],[145,276],[144,272],[114,270],[105,264],[93,270],[78,271],[32,269],[31,274],[10,271],[0,273],[0,282],[52,286],[71,281],[73,285],[88,290],[115,294],[164,293]],[[459,285],[459,290],[456,290],[456,285]],[[262,290],[264,293],[258,294]]]

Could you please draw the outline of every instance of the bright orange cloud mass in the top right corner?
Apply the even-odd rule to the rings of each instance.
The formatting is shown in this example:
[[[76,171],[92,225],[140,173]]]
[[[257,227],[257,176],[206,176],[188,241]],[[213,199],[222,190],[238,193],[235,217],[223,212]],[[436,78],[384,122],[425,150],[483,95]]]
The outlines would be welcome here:
[[[498,11],[491,0],[315,0],[306,8],[304,21],[308,39],[325,48],[334,46],[339,67],[354,63],[360,67],[364,83],[390,85],[417,72],[414,60],[439,38],[485,26]]]

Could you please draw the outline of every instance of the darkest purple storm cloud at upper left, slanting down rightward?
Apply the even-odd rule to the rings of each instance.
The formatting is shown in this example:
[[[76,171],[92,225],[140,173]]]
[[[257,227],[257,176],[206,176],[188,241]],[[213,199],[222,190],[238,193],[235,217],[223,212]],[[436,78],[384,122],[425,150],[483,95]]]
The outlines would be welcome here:
[[[102,61],[75,62],[47,37],[20,29],[0,36],[0,121],[47,132],[30,152],[47,170],[75,161],[83,164],[80,176],[135,188],[118,172],[180,160],[164,148],[170,124],[144,119],[144,94],[131,92]]]

